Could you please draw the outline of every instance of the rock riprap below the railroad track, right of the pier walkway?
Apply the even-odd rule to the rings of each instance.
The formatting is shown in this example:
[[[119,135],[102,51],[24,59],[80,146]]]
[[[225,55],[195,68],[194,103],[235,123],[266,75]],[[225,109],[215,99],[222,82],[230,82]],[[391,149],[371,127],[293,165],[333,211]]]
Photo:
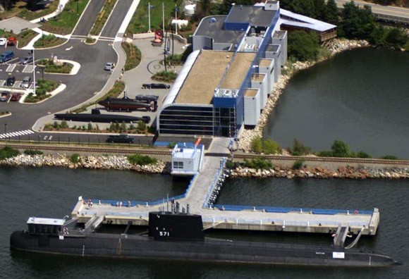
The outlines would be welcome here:
[[[269,170],[255,168],[234,168],[231,171],[231,178],[346,178],[346,179],[367,179],[367,178],[386,178],[386,179],[405,179],[409,178],[409,169],[391,168],[355,168],[353,166],[340,166],[336,171],[328,168],[303,168],[294,170],[275,166]]]

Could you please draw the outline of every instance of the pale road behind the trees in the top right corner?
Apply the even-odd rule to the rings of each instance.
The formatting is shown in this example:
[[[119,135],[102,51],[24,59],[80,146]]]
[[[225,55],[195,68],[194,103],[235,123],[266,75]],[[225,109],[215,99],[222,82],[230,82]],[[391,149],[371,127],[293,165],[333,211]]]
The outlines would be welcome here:
[[[335,2],[339,8],[343,8],[343,4],[346,4],[350,1],[335,0]],[[372,13],[374,13],[374,16],[376,16],[377,18],[409,24],[409,8],[381,6],[378,4],[367,3],[364,1],[354,1],[354,3],[360,7],[363,7],[364,5],[370,6],[372,9]]]

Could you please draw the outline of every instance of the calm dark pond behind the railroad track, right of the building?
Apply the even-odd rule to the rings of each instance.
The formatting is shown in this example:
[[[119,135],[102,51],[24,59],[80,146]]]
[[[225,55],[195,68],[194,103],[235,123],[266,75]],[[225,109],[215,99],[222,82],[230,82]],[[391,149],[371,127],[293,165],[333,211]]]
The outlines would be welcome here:
[[[264,137],[315,151],[342,140],[352,151],[409,159],[409,53],[355,49],[294,75]]]

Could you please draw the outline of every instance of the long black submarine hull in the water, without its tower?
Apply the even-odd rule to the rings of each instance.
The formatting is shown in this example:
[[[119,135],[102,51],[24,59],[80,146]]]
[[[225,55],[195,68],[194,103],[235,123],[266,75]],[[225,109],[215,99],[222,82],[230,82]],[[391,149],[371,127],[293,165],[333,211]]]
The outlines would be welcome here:
[[[62,239],[63,238],[63,239]],[[74,256],[220,261],[306,266],[381,267],[396,264],[389,256],[332,250],[303,244],[243,242],[205,238],[204,241],[158,241],[144,235],[30,235],[16,231],[11,249]]]

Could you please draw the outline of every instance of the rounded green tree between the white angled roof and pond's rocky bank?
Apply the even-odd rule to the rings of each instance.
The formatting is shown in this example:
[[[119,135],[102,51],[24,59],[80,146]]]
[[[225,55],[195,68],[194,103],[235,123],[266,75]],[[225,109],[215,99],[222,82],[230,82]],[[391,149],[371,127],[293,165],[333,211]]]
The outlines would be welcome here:
[[[288,34],[288,56],[297,60],[316,60],[320,47],[319,37],[315,32],[298,30]]]

